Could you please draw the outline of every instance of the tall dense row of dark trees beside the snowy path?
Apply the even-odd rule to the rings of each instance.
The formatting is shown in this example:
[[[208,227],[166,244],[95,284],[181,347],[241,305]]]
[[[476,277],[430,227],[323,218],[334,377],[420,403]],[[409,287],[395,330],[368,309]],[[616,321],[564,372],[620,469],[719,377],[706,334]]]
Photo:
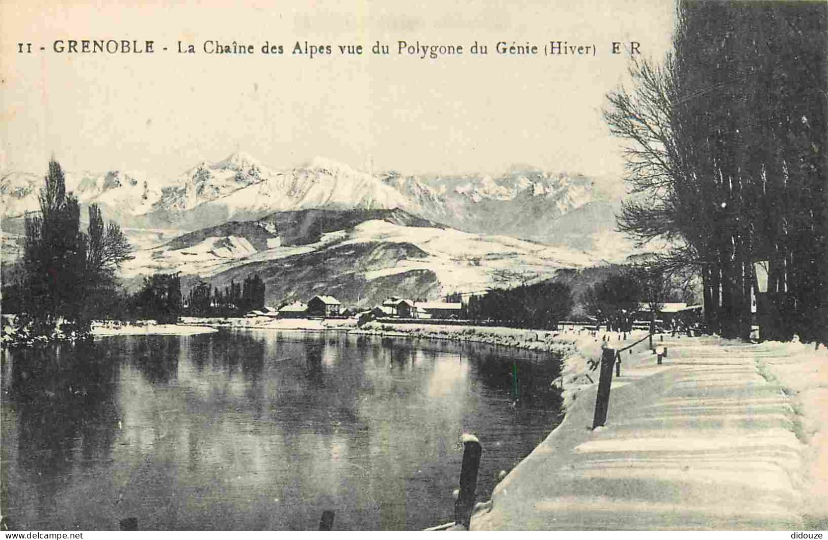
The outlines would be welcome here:
[[[749,337],[758,297],[764,337],[828,343],[826,19],[821,3],[681,2],[674,53],[608,96],[634,194],[619,229],[672,243],[658,264],[698,272],[725,337]]]

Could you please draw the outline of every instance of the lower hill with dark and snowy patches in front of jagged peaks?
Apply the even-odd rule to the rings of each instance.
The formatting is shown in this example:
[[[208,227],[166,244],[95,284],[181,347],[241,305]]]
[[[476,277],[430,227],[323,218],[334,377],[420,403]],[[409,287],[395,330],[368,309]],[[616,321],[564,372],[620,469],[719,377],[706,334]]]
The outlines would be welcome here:
[[[152,272],[182,272],[220,286],[259,272],[268,301],[277,304],[326,291],[360,303],[390,294],[433,298],[595,263],[586,253],[466,233],[404,210],[282,212],[200,229],[134,254],[122,269],[133,283]]]

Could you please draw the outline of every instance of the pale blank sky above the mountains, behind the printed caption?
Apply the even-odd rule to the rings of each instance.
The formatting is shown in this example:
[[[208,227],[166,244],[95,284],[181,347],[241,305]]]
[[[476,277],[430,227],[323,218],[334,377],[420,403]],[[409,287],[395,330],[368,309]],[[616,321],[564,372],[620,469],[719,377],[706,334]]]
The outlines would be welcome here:
[[[0,0],[0,170],[177,176],[236,150],[277,168],[327,157],[407,174],[489,172],[514,164],[619,177],[620,141],[601,117],[641,43],[661,58],[664,0],[513,2],[24,2]],[[55,40],[152,40],[148,54],[69,54]],[[463,55],[398,55],[397,41],[462,45]],[[177,52],[178,42],[195,54]],[[216,55],[205,41],[253,45]],[[263,55],[268,42],[282,55]],[[296,41],[332,55],[292,55]],[[389,55],[373,55],[376,42]],[[478,41],[488,55],[469,54]],[[537,55],[498,55],[498,41]],[[543,55],[550,41],[595,55]],[[31,54],[17,43],[32,43]],[[361,56],[338,45],[362,44]],[[39,51],[39,47],[46,51]],[[166,46],[167,51],[161,51]],[[628,83],[628,80],[626,81]]]

